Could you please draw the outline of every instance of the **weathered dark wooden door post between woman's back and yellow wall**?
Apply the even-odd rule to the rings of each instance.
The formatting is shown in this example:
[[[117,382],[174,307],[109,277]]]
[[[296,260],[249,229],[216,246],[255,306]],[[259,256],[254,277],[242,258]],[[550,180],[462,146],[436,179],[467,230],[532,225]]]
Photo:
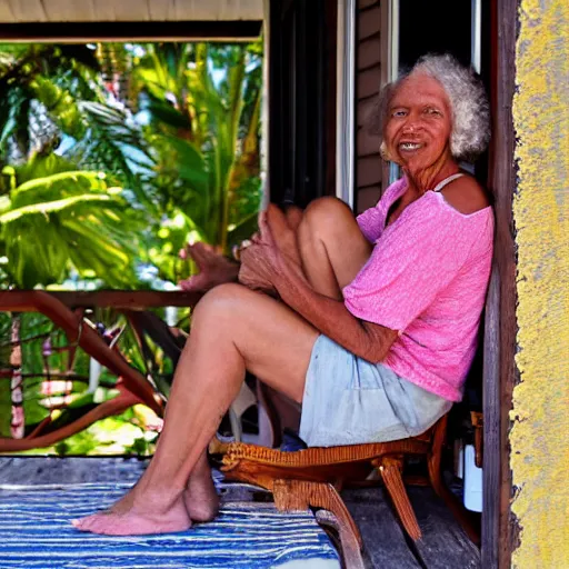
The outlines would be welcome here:
[[[492,140],[488,187],[495,197],[496,239],[485,328],[483,412],[485,473],[482,567],[507,569],[518,529],[511,519],[512,479],[509,463],[509,412],[516,366],[516,191],[512,102],[516,89],[518,0],[490,2],[490,108]]]

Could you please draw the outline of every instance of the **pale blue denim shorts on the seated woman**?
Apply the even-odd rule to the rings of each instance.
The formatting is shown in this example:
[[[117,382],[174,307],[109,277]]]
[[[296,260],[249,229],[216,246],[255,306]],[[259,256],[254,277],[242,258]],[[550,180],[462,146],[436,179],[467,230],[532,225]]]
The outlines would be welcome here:
[[[451,407],[386,366],[319,336],[307,371],[299,435],[309,447],[387,442],[420,435]]]

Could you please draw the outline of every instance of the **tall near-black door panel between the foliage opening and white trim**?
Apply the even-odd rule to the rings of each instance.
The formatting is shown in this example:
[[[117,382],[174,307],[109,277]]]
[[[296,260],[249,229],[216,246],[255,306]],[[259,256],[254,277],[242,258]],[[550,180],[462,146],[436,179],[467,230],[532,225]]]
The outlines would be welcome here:
[[[271,1],[269,97],[270,198],[305,207],[333,192],[336,2]]]

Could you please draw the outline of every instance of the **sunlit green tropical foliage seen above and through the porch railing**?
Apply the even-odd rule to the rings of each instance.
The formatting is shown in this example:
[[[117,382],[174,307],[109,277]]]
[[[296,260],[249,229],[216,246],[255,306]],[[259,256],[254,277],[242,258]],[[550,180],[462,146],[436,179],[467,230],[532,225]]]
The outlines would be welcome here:
[[[188,240],[227,252],[248,237],[261,201],[260,46],[0,44],[0,289],[172,288],[192,271],[178,257]],[[174,362],[160,346],[124,315],[89,318],[119,330],[113,349],[168,395]],[[91,359],[68,348],[40,315],[0,313],[0,437],[14,422],[49,432],[116,396],[117,378],[102,370],[93,388]],[[137,408],[118,419],[123,450],[150,449],[152,420]],[[101,445],[99,426],[52,450]]]

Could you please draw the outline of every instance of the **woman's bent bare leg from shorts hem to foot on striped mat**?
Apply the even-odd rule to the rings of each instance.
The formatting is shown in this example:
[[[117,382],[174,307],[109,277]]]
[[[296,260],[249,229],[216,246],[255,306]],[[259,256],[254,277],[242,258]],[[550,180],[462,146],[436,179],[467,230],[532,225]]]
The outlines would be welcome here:
[[[317,337],[288,307],[240,284],[206,295],[176,370],[156,455],[126,500],[128,507],[83,518],[76,527],[108,535],[189,528],[182,496],[187,481],[239,392],[246,368],[300,402]]]

